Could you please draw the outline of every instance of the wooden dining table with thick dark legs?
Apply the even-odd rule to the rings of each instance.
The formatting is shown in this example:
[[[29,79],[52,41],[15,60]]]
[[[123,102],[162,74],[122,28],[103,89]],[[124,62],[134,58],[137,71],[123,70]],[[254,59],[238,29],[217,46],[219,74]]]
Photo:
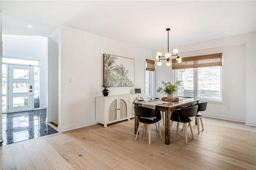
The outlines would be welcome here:
[[[159,102],[156,102],[159,101]],[[180,98],[179,102],[160,102],[161,99],[157,100],[150,100],[150,101],[141,101],[141,102],[134,102],[135,106],[143,106],[143,107],[153,107],[155,109],[158,109],[159,111],[164,112],[164,143],[170,144],[170,115],[172,115],[173,111],[175,109],[180,109],[185,106],[190,106],[196,103],[199,103],[200,99],[194,99],[194,98]],[[156,105],[154,106],[154,104]],[[134,134],[136,134],[137,129],[139,127],[139,118],[135,115],[135,121],[134,121]]]

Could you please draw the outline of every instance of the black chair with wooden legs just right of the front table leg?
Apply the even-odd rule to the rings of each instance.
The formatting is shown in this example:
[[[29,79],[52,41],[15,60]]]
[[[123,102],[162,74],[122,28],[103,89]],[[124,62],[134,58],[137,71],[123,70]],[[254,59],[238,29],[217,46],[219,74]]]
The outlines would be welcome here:
[[[170,116],[170,120],[172,120],[172,122],[170,123],[170,132],[172,133],[172,126],[174,122],[177,122],[176,133],[178,133],[178,130],[179,130],[179,123],[183,123],[186,143],[187,143],[187,123],[190,127],[192,137],[194,138],[194,133],[191,126],[191,119],[189,117],[196,116],[197,109],[198,109],[198,106],[190,106],[182,109],[177,109],[177,110],[174,110],[172,115]]]

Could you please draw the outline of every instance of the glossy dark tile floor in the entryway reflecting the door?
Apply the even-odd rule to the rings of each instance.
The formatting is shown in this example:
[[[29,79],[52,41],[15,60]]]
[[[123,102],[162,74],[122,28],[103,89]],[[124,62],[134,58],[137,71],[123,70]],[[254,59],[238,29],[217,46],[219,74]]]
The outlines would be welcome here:
[[[57,133],[46,124],[46,109],[3,113],[3,145]]]

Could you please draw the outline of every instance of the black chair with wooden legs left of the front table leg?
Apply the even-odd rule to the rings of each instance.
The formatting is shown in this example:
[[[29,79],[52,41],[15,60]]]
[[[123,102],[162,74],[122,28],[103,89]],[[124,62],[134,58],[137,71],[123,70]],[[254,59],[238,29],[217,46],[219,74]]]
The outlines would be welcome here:
[[[160,124],[159,124],[159,121],[161,120],[161,114],[159,110],[142,107],[142,106],[134,106],[134,112],[135,112],[135,115],[138,116],[139,118],[139,127],[136,133],[135,140],[137,140],[140,127],[143,124],[146,127],[144,134],[145,132],[147,132],[148,144],[151,145],[151,127],[150,126],[151,124],[156,124],[156,123],[158,123],[161,140],[163,139]]]

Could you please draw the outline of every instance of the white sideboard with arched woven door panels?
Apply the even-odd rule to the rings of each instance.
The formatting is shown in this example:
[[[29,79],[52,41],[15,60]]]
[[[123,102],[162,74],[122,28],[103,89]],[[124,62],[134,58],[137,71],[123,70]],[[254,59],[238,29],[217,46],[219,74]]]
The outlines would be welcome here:
[[[96,122],[108,124],[134,117],[135,100],[147,100],[146,94],[123,94],[96,97]]]

